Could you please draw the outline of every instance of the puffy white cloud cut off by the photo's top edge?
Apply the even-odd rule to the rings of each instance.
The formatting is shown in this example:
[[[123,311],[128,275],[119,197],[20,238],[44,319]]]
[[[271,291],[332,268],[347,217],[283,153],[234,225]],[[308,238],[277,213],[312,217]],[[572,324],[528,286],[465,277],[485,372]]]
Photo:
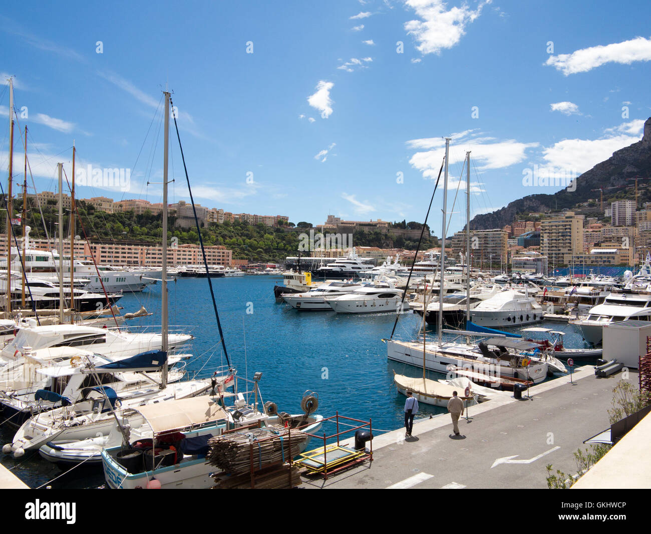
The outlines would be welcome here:
[[[482,8],[492,0],[484,0],[473,10],[463,3],[461,7],[447,10],[443,0],[407,0],[421,20],[410,20],[404,24],[409,35],[418,43],[416,49],[422,54],[441,53],[452,48],[465,35],[465,27],[481,14]]]

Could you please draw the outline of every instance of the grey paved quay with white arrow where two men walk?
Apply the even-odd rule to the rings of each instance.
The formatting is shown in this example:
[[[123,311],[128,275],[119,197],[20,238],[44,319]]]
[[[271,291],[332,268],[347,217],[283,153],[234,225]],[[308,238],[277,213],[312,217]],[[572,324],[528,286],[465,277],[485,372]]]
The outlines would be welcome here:
[[[596,378],[591,365],[531,387],[531,399],[512,395],[471,406],[450,437],[449,414],[415,421],[373,439],[373,462],[324,481],[303,477],[303,488],[546,488],[547,464],[575,473],[574,452],[609,428],[613,387],[621,374]],[[637,384],[637,372],[629,371]],[[526,394],[525,394],[526,395]],[[346,444],[352,445],[352,439]]]

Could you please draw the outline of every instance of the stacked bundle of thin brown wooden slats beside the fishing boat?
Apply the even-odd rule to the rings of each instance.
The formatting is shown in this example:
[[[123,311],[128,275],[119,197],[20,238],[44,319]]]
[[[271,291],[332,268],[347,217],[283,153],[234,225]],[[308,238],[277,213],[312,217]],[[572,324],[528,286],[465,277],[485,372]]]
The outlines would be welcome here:
[[[239,475],[249,473],[252,467],[260,469],[266,464],[286,462],[294,458],[299,454],[301,444],[307,439],[309,436],[300,430],[292,430],[290,439],[290,429],[283,426],[251,428],[210,439],[210,451],[206,459],[212,466],[232,475]]]

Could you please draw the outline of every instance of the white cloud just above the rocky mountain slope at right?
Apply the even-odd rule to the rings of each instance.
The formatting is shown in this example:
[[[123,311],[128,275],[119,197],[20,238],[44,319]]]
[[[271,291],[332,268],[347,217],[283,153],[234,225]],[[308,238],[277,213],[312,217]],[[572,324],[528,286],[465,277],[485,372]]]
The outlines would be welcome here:
[[[635,120],[606,128],[600,139],[565,139],[543,149],[543,159],[549,168],[580,174],[607,160],[613,152],[639,141],[643,128],[644,121]]]

